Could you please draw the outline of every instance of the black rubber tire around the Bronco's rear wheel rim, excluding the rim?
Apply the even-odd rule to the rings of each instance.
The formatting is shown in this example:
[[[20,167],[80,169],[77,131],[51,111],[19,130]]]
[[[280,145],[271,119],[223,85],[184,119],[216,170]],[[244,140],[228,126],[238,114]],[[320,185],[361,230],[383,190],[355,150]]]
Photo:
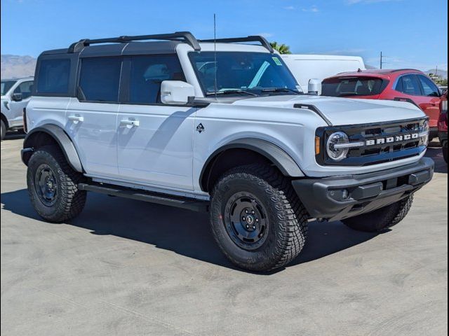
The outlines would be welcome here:
[[[36,183],[38,169],[46,165],[54,172],[57,191],[55,202],[48,206],[39,196],[39,183]],[[78,189],[83,175],[69,166],[58,146],[44,146],[35,151],[28,162],[27,186],[29,199],[36,212],[43,219],[53,223],[69,221],[78,216],[86,204],[86,191]],[[37,188],[36,188],[37,186]]]

